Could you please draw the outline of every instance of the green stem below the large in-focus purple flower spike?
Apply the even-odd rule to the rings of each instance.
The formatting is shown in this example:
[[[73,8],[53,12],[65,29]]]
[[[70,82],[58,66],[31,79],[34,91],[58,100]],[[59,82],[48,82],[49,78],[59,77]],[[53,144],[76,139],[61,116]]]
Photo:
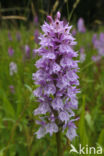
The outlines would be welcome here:
[[[61,151],[61,132],[56,133],[56,143],[57,143],[57,156],[62,156]]]

